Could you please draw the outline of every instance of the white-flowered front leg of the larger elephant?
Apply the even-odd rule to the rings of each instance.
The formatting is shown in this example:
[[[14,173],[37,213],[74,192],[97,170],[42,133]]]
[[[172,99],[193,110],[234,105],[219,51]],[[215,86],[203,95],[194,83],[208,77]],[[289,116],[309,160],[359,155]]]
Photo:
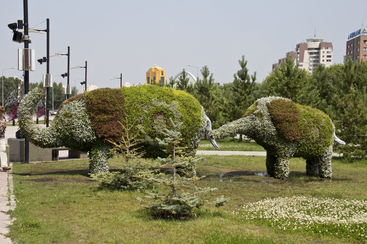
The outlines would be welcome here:
[[[89,172],[98,174],[108,172],[109,167],[107,159],[109,158],[109,147],[105,144],[99,144],[90,151],[89,155]]]

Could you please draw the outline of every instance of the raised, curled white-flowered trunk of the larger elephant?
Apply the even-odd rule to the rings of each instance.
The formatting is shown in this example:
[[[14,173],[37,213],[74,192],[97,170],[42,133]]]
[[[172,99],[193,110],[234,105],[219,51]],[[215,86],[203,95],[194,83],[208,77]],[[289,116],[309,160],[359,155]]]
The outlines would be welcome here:
[[[19,128],[29,142],[36,146],[43,148],[59,147],[61,145],[58,143],[52,124],[48,128],[43,128],[33,122],[32,110],[44,97],[44,94],[44,90],[35,88],[25,95],[18,108]]]

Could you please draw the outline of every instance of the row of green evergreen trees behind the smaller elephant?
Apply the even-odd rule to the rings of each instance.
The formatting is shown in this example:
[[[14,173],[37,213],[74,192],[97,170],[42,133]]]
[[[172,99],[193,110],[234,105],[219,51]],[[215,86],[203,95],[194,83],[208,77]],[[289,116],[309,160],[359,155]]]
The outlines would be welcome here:
[[[207,66],[200,72],[203,79],[189,83],[185,70],[178,81],[172,77],[167,86],[184,90],[199,100],[212,127],[218,128],[241,118],[258,98],[269,95],[291,99],[301,105],[325,112],[333,120],[337,135],[347,145],[341,147],[346,156],[367,156],[367,62],[346,59],[343,64],[325,67],[320,64],[312,75],[299,69],[292,57],[286,57],[263,80],[255,82],[256,72],[250,75],[247,60],[239,60],[240,70],[233,82],[217,86]],[[242,137],[240,137],[240,140]]]

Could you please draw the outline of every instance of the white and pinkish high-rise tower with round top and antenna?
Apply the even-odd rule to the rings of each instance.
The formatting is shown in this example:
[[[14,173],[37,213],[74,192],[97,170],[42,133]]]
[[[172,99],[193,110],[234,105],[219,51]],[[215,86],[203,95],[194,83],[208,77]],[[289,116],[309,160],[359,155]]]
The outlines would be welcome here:
[[[319,64],[324,64],[326,67],[333,64],[333,44],[331,42],[324,42],[324,39],[316,37],[306,39],[306,41],[296,45],[298,68],[308,70],[312,74]]]

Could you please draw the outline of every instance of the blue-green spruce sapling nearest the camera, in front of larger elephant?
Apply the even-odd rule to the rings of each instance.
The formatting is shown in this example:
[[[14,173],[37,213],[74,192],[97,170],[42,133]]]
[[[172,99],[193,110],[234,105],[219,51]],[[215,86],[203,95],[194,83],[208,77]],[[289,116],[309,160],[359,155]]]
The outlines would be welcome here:
[[[182,125],[182,122],[176,125],[171,118],[170,120],[174,127],[174,130],[165,129],[166,132],[163,133],[167,135],[167,138],[164,138],[164,140],[160,140],[159,138],[156,139],[159,141],[159,144],[166,147],[165,151],[167,154],[169,154],[168,158],[158,157],[160,166],[172,165],[172,177],[149,177],[148,175],[145,175],[143,177],[145,180],[154,181],[160,184],[162,186],[161,189],[166,189],[166,194],[160,194],[159,189],[157,189],[154,193],[146,193],[148,194],[146,198],[159,200],[158,203],[150,203],[142,200],[141,198],[137,198],[137,200],[139,200],[139,202],[142,204],[142,207],[154,211],[160,217],[174,218],[196,217],[193,209],[195,207],[200,208],[201,206],[203,206],[203,204],[211,204],[216,207],[225,205],[230,198],[224,198],[224,196],[221,196],[221,198],[217,198],[217,200],[215,200],[213,203],[202,202],[199,199],[200,194],[209,191],[215,191],[218,190],[218,188],[193,187],[192,193],[185,193],[183,191],[184,188],[190,188],[190,185],[192,185],[193,182],[199,180],[201,177],[199,178],[194,176],[192,178],[186,178],[180,176],[178,172],[181,171],[181,173],[185,173],[183,172],[183,167],[189,165],[190,162],[195,163],[197,161],[205,160],[205,158],[195,159],[191,156],[178,156],[183,149],[182,147],[178,146],[179,142],[182,140],[180,138],[181,133],[178,131]]]

